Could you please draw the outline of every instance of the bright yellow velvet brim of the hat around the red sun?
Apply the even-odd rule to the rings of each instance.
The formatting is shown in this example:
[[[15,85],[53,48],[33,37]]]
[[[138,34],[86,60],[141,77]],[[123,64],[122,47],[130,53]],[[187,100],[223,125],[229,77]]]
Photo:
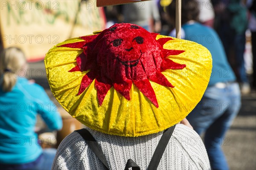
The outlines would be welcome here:
[[[167,36],[158,35],[156,39],[164,37]],[[182,54],[168,58],[186,64],[186,67],[162,72],[175,88],[151,82],[159,108],[134,84],[130,100],[112,87],[102,106],[99,106],[97,99],[95,80],[77,96],[81,79],[88,71],[68,71],[76,66],[76,57],[83,52],[79,48],[55,45],[46,54],[44,62],[52,93],[70,115],[103,133],[133,137],[165,130],[180,122],[195,108],[207,88],[212,69],[212,57],[207,48],[195,42],[173,39],[166,42],[163,48],[184,50]],[[78,41],[83,40],[73,38],[58,46]]]

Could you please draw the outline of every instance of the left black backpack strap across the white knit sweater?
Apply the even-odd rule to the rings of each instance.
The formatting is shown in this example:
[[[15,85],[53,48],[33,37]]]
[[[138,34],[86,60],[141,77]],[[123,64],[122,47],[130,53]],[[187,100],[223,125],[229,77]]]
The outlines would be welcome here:
[[[75,132],[79,133],[84,138],[84,141],[86,141],[90,149],[93,151],[93,153],[95,153],[99,160],[102,161],[105,168],[110,170],[108,168],[107,160],[102,152],[102,148],[99,146],[98,142],[96,142],[92,134],[87,129],[79,129],[75,130]]]

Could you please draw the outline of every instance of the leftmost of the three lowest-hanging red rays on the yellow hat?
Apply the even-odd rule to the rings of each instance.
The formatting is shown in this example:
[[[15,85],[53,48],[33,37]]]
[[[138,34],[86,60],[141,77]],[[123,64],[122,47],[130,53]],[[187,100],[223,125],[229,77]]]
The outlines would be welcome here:
[[[103,82],[98,82],[97,79],[95,79],[95,87],[97,89],[97,98],[99,100],[99,105],[101,106],[103,100],[105,99],[105,96],[107,95],[112,85]]]

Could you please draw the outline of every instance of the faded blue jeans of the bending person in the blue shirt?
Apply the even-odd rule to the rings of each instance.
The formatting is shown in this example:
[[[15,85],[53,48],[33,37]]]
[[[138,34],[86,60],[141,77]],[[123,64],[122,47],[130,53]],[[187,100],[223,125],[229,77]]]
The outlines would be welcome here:
[[[199,135],[205,132],[204,144],[213,170],[229,169],[221,146],[229,142],[225,133],[240,107],[238,83],[224,83],[221,88],[208,87],[201,101],[186,117]]]

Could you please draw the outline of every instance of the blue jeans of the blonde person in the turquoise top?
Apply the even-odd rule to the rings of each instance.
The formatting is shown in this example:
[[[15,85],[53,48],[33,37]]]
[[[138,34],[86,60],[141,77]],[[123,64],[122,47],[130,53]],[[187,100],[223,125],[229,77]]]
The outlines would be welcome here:
[[[51,170],[56,149],[44,149],[43,153],[33,162],[26,164],[0,164],[3,170]]]

